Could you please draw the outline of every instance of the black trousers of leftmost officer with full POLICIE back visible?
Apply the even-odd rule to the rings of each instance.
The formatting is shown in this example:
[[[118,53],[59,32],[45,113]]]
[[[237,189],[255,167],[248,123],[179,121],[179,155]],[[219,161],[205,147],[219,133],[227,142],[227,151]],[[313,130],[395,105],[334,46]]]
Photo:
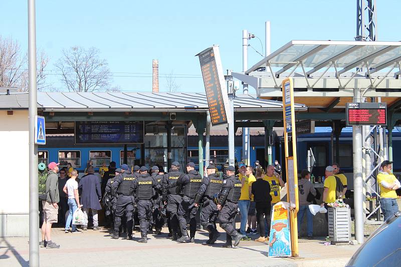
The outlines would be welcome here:
[[[134,197],[132,195],[119,195],[116,202],[116,211],[114,218],[114,231],[119,231],[121,217],[124,215],[127,219],[127,234],[132,234],[133,226]]]

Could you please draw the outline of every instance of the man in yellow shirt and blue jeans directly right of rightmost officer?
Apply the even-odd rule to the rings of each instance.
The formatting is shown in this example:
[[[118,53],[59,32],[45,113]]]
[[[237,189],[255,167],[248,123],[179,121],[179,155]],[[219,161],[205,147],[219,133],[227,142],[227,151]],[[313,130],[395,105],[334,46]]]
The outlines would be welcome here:
[[[256,181],[256,178],[254,175],[251,176],[249,174],[249,168],[247,169],[247,166],[245,164],[240,164],[239,172],[240,172],[239,179],[242,184],[241,196],[240,199],[238,200],[238,207],[240,208],[240,213],[241,213],[240,233],[244,235],[244,237],[241,240],[249,241],[251,240],[251,238],[247,236],[247,233],[245,231],[245,227],[247,226],[247,220],[248,220],[248,210],[249,206],[251,205],[249,186],[251,186],[252,182]]]

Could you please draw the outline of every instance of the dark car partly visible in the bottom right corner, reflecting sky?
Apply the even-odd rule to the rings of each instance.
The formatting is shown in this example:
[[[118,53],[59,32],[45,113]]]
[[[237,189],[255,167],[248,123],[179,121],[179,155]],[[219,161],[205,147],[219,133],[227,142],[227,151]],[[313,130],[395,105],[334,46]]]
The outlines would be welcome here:
[[[346,267],[401,266],[401,211],[388,218],[359,247]]]

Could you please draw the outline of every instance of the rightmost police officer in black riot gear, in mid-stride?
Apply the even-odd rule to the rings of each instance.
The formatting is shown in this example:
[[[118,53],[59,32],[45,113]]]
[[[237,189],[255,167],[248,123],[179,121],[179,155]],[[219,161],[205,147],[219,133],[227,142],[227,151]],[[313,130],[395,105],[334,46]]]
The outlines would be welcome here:
[[[219,212],[220,226],[227,232],[227,241],[224,247],[232,247],[240,243],[244,235],[235,229],[235,216],[238,209],[238,200],[241,196],[241,181],[235,175],[235,167],[227,167],[227,178],[223,181],[222,191],[220,193],[217,209]]]

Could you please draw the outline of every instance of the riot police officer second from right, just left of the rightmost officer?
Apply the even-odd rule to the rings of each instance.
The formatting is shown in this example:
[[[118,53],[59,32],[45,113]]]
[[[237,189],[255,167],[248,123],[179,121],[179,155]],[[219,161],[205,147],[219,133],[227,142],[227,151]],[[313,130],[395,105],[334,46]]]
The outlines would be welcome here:
[[[195,206],[198,206],[203,199],[200,224],[209,232],[209,240],[206,243],[214,244],[220,236],[216,228],[218,210],[215,199],[222,190],[223,179],[216,173],[215,165],[209,165],[206,171],[208,174],[202,179],[202,184],[195,195]]]

